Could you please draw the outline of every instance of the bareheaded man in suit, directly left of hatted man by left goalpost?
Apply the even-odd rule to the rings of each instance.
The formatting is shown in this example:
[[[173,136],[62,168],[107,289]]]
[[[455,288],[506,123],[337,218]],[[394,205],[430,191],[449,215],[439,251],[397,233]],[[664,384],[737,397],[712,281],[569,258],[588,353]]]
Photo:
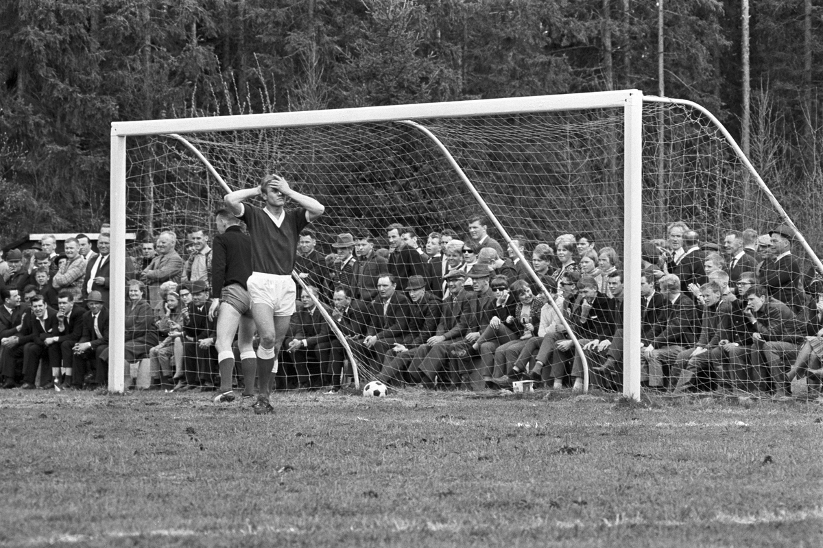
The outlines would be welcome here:
[[[73,349],[83,336],[83,314],[86,313],[86,309],[80,304],[75,304],[71,291],[61,290],[57,300],[57,332],[47,337],[44,342],[49,348],[54,383],[62,388],[71,387],[73,383]],[[61,379],[61,375],[65,377]]]

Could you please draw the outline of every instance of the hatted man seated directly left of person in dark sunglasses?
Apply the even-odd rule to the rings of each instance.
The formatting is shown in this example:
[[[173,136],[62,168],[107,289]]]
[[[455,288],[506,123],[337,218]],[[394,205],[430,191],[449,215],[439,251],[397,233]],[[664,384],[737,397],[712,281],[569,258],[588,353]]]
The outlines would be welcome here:
[[[425,360],[420,365],[424,376],[421,379],[424,384],[434,384],[435,377],[440,376],[444,380],[444,373],[447,370],[453,373],[456,378],[454,382],[459,382],[458,378],[464,378],[469,371],[465,370],[466,365],[471,366],[469,360],[455,360],[454,366],[457,369],[449,368],[449,354],[456,345],[472,346],[480,338],[481,333],[489,323],[489,313],[494,304],[495,297],[489,288],[491,271],[488,265],[475,264],[468,272],[468,277],[472,280],[472,295],[466,301],[463,313],[460,318],[460,326],[463,327],[463,337],[454,339],[449,345],[435,346]]]

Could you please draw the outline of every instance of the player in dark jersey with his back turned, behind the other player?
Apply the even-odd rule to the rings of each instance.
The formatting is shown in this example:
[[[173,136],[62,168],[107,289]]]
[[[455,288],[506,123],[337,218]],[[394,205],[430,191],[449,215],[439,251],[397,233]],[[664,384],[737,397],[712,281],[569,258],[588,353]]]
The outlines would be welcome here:
[[[219,403],[235,399],[235,392],[231,389],[231,376],[235,370],[235,352],[231,350],[231,343],[235,333],[238,333],[244,396],[254,393],[257,355],[252,346],[252,301],[246,288],[246,281],[252,274],[251,240],[240,228],[237,217],[227,209],[216,212],[215,223],[219,234],[214,237],[212,248],[212,307],[208,315],[212,319],[217,316],[215,346],[220,367],[220,393],[214,401]]]

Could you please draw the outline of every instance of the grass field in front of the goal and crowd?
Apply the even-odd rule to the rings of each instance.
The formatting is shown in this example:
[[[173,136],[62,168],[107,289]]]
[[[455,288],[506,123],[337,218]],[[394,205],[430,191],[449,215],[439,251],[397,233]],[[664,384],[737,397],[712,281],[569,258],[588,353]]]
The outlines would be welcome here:
[[[819,401],[188,394],[0,392],[0,545],[823,545]]]

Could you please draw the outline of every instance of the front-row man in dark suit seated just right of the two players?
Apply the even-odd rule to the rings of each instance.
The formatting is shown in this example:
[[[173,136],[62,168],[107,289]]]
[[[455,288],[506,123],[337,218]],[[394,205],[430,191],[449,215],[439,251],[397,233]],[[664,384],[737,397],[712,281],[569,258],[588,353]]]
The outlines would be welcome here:
[[[319,388],[332,383],[332,371],[323,371],[323,365],[328,362],[328,351],[331,340],[328,334],[328,323],[314,300],[319,290],[314,286],[306,286],[300,299],[302,309],[291,316],[291,339],[286,341],[286,352],[291,353],[295,362],[295,373],[300,388]]]

